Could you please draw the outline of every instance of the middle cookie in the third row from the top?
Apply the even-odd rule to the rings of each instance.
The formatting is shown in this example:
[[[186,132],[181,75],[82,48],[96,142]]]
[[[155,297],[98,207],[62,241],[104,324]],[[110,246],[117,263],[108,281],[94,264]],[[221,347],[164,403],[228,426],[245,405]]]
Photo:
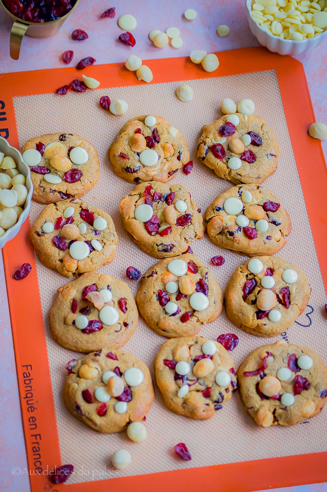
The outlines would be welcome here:
[[[149,328],[167,338],[196,335],[222,309],[216,278],[195,254],[165,258],[142,276],[138,311]]]

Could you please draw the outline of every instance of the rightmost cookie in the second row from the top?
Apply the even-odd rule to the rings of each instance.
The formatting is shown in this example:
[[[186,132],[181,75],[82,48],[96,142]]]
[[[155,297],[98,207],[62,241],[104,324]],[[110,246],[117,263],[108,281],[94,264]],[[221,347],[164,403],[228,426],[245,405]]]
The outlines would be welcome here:
[[[292,230],[279,198],[260,184],[228,188],[209,205],[206,220],[215,245],[248,256],[276,253]]]

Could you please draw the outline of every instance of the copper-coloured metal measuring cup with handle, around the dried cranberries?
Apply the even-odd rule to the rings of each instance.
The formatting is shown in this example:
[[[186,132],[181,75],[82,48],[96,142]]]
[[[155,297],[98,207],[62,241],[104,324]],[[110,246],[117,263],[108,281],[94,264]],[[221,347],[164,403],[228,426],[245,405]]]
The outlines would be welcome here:
[[[2,0],[0,0],[0,7],[3,8],[5,13],[14,19],[14,23],[10,32],[10,57],[13,60],[19,59],[19,52],[21,49],[21,44],[23,36],[26,33],[30,37],[50,37],[53,36],[65,22],[67,17],[75,10],[80,0],[76,0],[75,5],[59,19],[49,22],[28,22],[19,19],[14,14],[9,12],[7,8],[3,5]]]

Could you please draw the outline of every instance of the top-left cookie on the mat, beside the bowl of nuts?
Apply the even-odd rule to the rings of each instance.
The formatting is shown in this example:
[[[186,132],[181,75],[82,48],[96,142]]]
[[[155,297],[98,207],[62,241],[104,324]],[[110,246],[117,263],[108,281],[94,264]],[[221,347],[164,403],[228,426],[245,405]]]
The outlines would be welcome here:
[[[100,176],[98,153],[81,135],[41,135],[28,140],[21,152],[30,169],[33,200],[38,203],[79,198]]]

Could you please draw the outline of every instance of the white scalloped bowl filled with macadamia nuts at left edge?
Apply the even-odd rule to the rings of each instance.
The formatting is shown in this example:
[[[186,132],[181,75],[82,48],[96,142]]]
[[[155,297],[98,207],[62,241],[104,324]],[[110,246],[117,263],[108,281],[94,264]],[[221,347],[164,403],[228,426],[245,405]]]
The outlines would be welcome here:
[[[0,249],[19,233],[32,194],[30,171],[21,153],[0,137]]]

